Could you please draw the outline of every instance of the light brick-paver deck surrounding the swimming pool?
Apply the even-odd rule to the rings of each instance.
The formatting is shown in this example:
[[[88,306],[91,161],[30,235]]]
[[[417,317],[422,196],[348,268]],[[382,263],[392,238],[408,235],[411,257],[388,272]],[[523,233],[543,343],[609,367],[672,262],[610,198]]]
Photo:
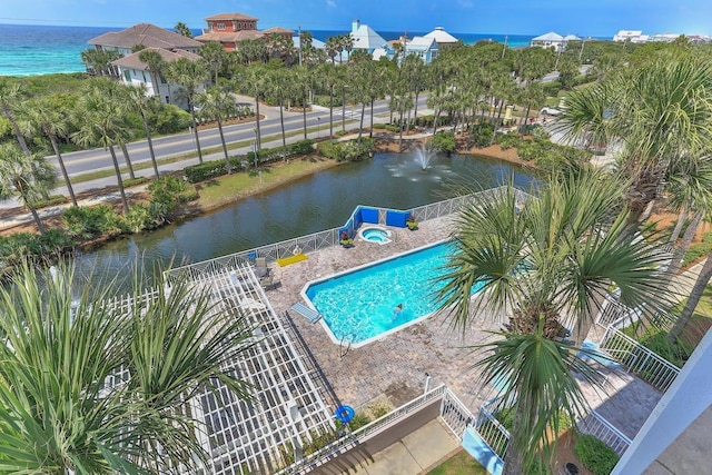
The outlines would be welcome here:
[[[284,315],[297,301],[303,301],[304,285],[374,260],[387,258],[449,237],[449,218],[421,222],[419,229],[388,228],[393,243],[378,245],[358,238],[353,248],[333,247],[309,253],[306,260],[286,267],[271,265],[275,281],[280,285],[267,291],[273,308]],[[387,283],[385,283],[387,285]],[[490,388],[482,389],[471,369],[477,355],[467,346],[484,343],[487,330],[502,327],[503,318],[481,315],[463,334],[448,325],[445,315],[435,314],[418,324],[385,336],[360,348],[340,348],[332,343],[322,323],[312,324],[290,311],[317,364],[342,404],[365,407],[376,398],[388,398],[394,407],[421,395],[426,373],[431,388],[445,384],[473,412],[493,397]],[[604,417],[629,437],[637,433],[661,395],[645,383],[627,374],[609,377],[607,394],[601,398],[592,388],[584,388],[594,409],[606,408]],[[635,410],[631,410],[635,408]]]

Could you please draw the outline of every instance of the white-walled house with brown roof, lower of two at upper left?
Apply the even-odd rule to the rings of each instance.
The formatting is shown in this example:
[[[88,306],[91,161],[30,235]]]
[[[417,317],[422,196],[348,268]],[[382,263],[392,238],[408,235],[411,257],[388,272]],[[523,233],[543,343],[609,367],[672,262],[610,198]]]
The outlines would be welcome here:
[[[164,48],[146,48],[111,62],[111,65],[118,69],[119,78],[122,83],[127,86],[139,86],[140,83],[145,83],[148,96],[158,96],[161,102],[174,103],[182,109],[187,109],[188,103],[186,102],[185,97],[180,93],[180,87],[168,83],[162,75],[158,75],[158,77],[155,78],[149,71],[148,65],[140,59],[140,55],[144,51],[158,52],[167,63],[179,58],[187,58],[191,61],[196,61],[200,59],[200,56],[181,49],[171,51]]]

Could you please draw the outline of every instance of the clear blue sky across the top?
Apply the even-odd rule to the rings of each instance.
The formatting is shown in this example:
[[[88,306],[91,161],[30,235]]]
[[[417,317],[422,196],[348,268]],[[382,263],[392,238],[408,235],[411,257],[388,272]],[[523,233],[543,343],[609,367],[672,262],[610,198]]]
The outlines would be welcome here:
[[[258,28],[348,31],[359,19],[375,30],[611,38],[644,33],[712,33],[710,0],[0,0],[0,23],[191,28],[216,13],[259,18]]]

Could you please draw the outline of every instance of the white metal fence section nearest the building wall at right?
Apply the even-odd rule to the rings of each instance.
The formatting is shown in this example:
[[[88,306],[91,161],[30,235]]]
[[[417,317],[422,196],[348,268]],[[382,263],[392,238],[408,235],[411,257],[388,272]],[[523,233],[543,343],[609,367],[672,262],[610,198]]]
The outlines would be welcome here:
[[[609,327],[600,347],[625,368],[661,392],[668,390],[680,368],[614,327]]]

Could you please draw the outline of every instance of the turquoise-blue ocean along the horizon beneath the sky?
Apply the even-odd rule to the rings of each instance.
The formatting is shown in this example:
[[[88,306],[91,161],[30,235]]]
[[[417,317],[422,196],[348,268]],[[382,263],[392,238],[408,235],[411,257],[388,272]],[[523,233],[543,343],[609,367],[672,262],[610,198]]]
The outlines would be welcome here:
[[[89,48],[87,40],[121,28],[99,27],[50,27],[34,24],[0,24],[0,76],[36,76],[55,72],[82,72],[81,51]],[[200,34],[200,30],[194,30]],[[314,38],[326,41],[329,37],[345,34],[346,31],[313,30]],[[396,40],[402,32],[379,31],[386,41]],[[505,41],[504,34],[454,33],[466,44],[481,40]],[[408,32],[408,37],[425,32]],[[512,48],[527,46],[532,36],[510,34],[507,44]]]

